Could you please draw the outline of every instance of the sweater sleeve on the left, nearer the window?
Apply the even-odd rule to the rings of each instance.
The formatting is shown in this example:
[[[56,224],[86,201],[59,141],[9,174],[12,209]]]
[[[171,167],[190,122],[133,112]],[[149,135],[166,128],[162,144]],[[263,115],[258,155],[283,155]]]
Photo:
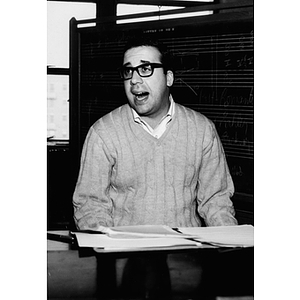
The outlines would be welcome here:
[[[113,206],[109,197],[113,159],[92,127],[86,137],[80,171],[73,194],[74,220],[79,229],[113,226]]]

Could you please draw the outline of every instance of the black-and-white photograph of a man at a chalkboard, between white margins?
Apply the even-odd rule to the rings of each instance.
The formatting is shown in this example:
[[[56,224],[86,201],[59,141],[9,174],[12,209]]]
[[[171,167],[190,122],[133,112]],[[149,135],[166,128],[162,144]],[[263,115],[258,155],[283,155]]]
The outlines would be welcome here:
[[[254,1],[47,0],[47,299],[254,299]]]

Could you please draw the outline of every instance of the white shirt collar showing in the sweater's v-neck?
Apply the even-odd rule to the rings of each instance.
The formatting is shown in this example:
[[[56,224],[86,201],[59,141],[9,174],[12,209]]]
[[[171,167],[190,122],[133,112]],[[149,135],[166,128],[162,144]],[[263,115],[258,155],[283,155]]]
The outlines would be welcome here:
[[[169,96],[169,100],[170,100],[170,107],[167,114],[160,120],[160,122],[154,129],[146,121],[144,121],[133,108],[131,108],[134,121],[140,124],[142,128],[144,128],[148,133],[150,133],[155,138],[157,139],[160,138],[163,135],[163,133],[166,131],[167,125],[169,122],[171,122],[175,112],[174,100],[171,94]]]

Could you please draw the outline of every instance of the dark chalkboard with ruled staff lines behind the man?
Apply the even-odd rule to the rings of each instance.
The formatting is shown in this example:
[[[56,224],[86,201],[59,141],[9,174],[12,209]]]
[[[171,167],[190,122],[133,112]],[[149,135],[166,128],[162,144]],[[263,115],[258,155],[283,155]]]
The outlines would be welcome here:
[[[168,23],[166,23],[168,24]],[[117,69],[128,37],[153,35],[176,58],[175,102],[210,118],[222,140],[238,195],[253,196],[254,32],[253,20],[142,28],[74,27],[73,141],[78,156],[90,126],[126,103]],[[75,45],[75,46],[74,46]],[[74,54],[75,53],[75,54]],[[75,116],[75,117],[74,117]]]

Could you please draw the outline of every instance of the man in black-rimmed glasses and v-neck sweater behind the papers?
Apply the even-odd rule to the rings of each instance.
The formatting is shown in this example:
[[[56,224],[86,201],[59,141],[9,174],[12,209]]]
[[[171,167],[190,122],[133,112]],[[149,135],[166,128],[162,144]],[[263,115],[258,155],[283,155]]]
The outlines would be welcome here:
[[[216,129],[199,112],[174,102],[174,73],[166,58],[155,42],[127,46],[120,74],[128,104],[100,118],[83,147],[73,197],[78,228],[189,227],[201,226],[201,218],[207,226],[237,224],[234,187]],[[143,265],[150,270],[148,287],[157,287],[157,273],[157,282],[169,288],[164,262],[162,256],[138,260],[127,270],[137,273]],[[157,294],[167,299],[166,289]]]

